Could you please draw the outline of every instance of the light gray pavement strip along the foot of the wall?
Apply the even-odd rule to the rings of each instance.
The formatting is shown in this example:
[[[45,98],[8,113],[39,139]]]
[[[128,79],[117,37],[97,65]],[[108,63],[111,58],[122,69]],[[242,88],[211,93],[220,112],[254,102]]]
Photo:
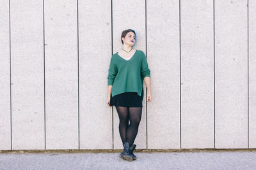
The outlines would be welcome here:
[[[256,151],[114,153],[0,153],[0,169],[256,169]]]

